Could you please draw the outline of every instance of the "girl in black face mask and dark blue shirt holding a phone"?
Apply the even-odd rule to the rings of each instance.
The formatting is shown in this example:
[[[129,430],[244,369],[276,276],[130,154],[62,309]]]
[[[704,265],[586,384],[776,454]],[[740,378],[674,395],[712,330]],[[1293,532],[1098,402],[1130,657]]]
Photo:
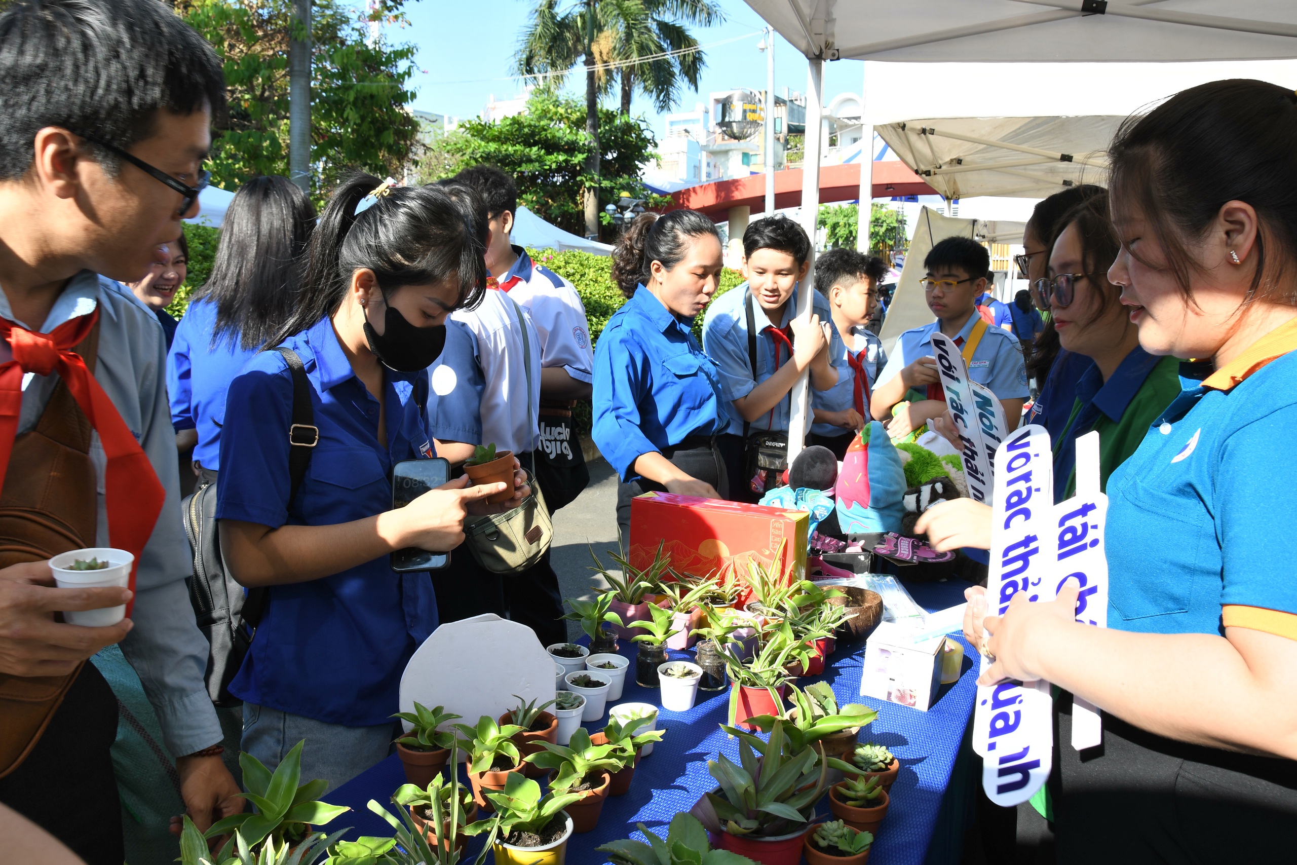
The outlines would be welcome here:
[[[505,488],[467,488],[462,477],[389,510],[393,464],[433,455],[424,368],[441,353],[446,315],[485,285],[473,224],[431,187],[357,175],[333,195],[294,313],[268,344],[296,353],[310,383],[318,433],[294,431],[298,446],[315,442],[298,489],[289,481],[291,358],[267,349],[230,386],[222,549],[241,584],[268,587],[230,683],[244,700],[243,750],[275,766],[309,739],[302,777],[329,787],[387,756],[401,673],[437,626],[428,575],[394,573],[388,554],[455,547],[468,510]]]

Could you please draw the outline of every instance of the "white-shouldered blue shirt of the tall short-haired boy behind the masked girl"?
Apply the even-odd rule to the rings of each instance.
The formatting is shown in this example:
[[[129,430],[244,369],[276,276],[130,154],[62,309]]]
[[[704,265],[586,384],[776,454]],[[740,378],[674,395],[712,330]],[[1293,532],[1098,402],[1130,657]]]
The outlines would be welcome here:
[[[532,316],[541,336],[541,366],[562,367],[577,381],[594,381],[594,348],[585,305],[572,283],[532,261],[521,246],[512,246],[518,261],[501,276],[498,287]]]

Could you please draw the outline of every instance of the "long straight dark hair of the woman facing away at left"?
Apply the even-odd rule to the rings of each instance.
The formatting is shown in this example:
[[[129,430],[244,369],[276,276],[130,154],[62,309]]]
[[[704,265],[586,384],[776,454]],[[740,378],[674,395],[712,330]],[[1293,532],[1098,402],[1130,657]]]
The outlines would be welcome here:
[[[195,300],[217,307],[211,348],[224,340],[259,349],[279,333],[302,288],[315,207],[288,178],[253,178],[239,188],[220,227],[217,259]]]

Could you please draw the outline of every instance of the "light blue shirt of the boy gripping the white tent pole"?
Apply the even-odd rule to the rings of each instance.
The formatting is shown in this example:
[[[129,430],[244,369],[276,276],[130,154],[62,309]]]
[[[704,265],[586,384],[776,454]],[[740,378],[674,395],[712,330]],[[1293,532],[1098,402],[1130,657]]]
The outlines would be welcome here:
[[[798,309],[798,292],[802,290],[802,284],[799,283],[792,289],[792,294],[789,297],[789,302],[783,307],[783,320],[779,322],[779,328],[786,328],[792,320]],[[813,290],[813,289],[812,289]],[[770,318],[765,314],[765,310],[752,300],[748,301],[751,293],[748,292],[747,283],[735,285],[730,290],[725,292],[707,307],[707,315],[703,319],[703,348],[707,349],[707,354],[716,361],[716,367],[721,372],[721,386],[725,393],[725,412],[729,415],[729,431],[735,436],[743,434],[743,416],[734,407],[735,399],[742,399],[747,394],[752,393],[752,389],[769,379],[776,373],[779,366],[789,362],[787,350],[779,349],[778,366],[776,366],[776,342],[774,337],[768,336],[767,329],[772,329],[774,326],[770,324]],[[752,320],[756,324],[756,377],[752,376],[752,362],[747,351],[747,310],[744,303],[752,303]],[[824,298],[824,294],[815,292],[811,297],[811,311],[820,316],[821,322],[827,322],[831,329],[831,336],[829,338],[829,366],[838,370],[838,379],[842,379],[842,370],[847,366],[847,357],[844,354],[846,348],[842,344],[842,337],[838,335],[838,328],[833,326],[833,315],[829,313],[829,301]],[[833,406],[825,399],[825,394],[830,390],[816,390],[815,386],[811,388],[811,406],[813,409],[825,409],[833,411]],[[791,392],[790,392],[791,393]],[[774,409],[765,412],[756,420],[748,424],[750,431],[769,429],[774,432],[789,431],[790,414],[792,411],[792,401],[785,397]],[[830,424],[815,424],[811,432],[824,434],[824,436],[837,436],[843,431],[840,427],[833,427]]]

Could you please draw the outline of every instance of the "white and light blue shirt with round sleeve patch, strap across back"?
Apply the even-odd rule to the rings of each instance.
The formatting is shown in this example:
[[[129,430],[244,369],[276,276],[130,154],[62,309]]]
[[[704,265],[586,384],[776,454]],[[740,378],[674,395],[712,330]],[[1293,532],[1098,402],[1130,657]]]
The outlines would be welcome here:
[[[515,310],[527,327],[530,389]],[[453,327],[457,333],[451,333]],[[428,375],[428,425],[434,438],[494,444],[497,450],[514,454],[540,446],[541,340],[527,310],[503,292],[488,289],[477,309],[450,314],[446,346]],[[472,438],[466,431],[480,432]]]

